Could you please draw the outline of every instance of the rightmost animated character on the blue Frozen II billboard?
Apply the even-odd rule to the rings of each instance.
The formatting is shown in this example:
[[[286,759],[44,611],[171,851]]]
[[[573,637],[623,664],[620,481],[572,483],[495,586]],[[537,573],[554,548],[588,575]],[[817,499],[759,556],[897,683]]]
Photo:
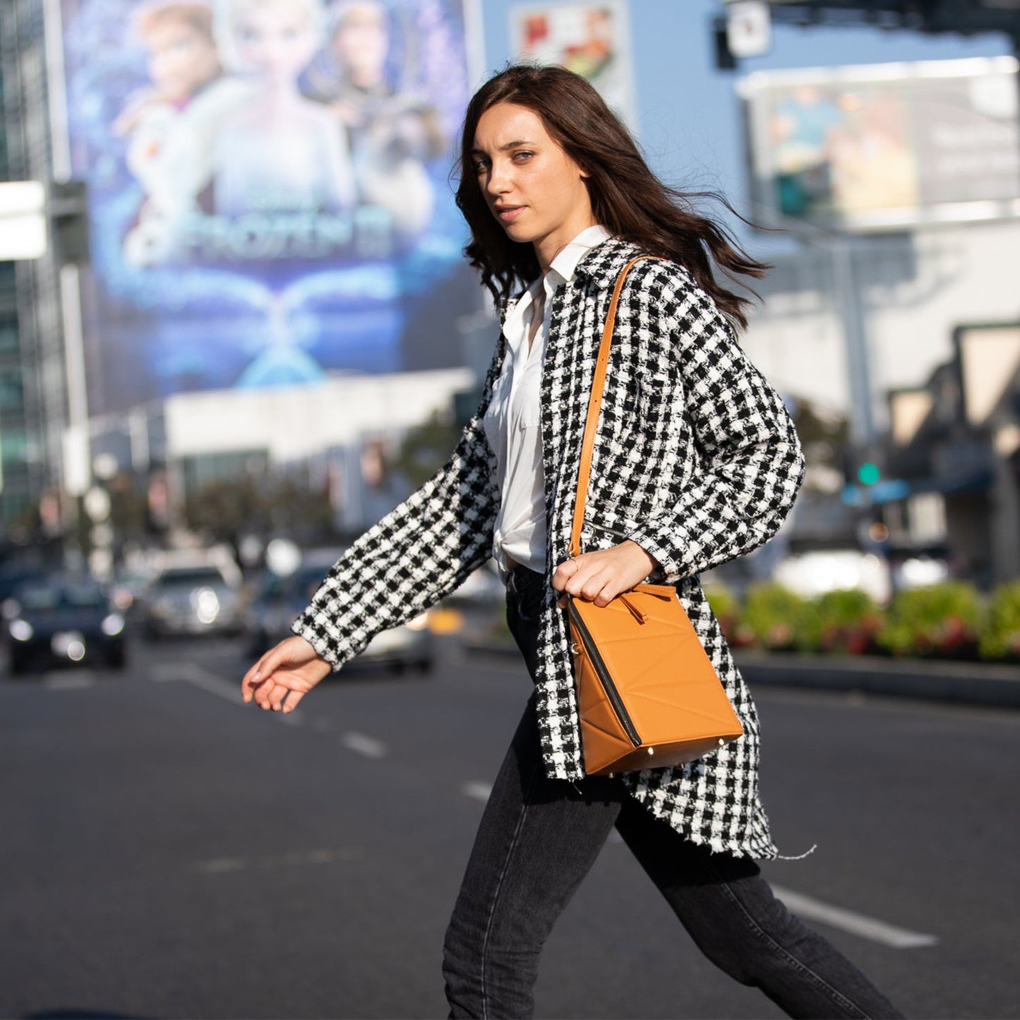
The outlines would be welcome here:
[[[409,240],[431,217],[424,164],[444,153],[447,139],[436,107],[390,80],[390,16],[376,0],[334,4],[327,56],[336,66],[311,80],[349,140],[360,201],[385,209],[398,240]]]

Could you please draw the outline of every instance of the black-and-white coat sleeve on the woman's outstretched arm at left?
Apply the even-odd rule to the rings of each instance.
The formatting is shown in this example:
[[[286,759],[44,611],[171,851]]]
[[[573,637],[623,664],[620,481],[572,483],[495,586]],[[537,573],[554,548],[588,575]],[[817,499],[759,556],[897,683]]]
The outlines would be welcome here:
[[[499,497],[481,419],[502,347],[497,347],[478,410],[450,460],[351,546],[294,621],[294,632],[334,669],[380,630],[435,605],[491,555]]]

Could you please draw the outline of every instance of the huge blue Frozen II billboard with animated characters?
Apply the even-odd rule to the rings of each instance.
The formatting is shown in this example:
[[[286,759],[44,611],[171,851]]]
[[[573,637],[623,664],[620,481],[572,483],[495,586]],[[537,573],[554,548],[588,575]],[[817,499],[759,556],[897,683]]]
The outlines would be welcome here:
[[[459,364],[463,0],[59,0],[90,414]]]

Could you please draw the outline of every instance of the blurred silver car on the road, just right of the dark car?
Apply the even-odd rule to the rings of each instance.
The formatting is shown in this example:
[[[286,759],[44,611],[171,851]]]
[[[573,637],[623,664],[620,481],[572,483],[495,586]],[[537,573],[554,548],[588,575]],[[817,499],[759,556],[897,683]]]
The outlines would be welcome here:
[[[168,566],[145,591],[142,620],[149,638],[241,633],[240,584],[217,564]]]

